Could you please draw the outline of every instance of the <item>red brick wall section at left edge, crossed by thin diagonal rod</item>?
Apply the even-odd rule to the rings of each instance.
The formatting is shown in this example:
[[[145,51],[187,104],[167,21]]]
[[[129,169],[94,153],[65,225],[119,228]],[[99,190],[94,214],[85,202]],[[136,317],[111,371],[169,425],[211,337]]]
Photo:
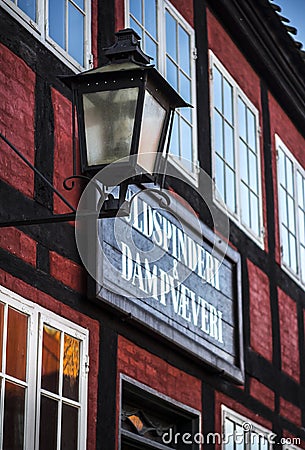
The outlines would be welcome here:
[[[34,163],[35,73],[0,44],[0,131]],[[0,139],[0,178],[32,197],[34,173]]]

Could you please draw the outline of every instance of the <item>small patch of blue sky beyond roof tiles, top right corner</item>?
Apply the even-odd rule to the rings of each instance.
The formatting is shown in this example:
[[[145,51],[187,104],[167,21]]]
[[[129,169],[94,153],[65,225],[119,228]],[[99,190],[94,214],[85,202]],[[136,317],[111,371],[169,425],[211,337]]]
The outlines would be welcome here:
[[[274,0],[274,3],[282,8],[282,16],[290,19],[291,25],[298,30],[298,34],[293,38],[303,43],[305,50],[305,0]]]

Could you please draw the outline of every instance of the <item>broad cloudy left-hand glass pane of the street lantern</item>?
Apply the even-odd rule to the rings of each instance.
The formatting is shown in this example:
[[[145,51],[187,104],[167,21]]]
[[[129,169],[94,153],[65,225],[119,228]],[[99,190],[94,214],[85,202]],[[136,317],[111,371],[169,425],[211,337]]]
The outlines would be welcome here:
[[[130,154],[139,88],[83,95],[88,166]]]

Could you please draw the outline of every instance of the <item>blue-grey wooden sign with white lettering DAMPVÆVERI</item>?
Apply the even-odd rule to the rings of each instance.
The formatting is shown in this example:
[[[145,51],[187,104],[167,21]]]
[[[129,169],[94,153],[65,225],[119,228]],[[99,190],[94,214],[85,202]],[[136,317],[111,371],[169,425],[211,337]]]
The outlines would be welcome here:
[[[99,221],[97,298],[242,381],[238,253],[187,205],[129,196],[129,216]]]

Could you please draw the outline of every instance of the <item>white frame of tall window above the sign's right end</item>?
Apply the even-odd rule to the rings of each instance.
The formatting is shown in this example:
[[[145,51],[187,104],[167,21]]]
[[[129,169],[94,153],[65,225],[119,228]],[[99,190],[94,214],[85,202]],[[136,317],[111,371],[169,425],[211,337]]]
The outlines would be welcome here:
[[[217,56],[209,50],[210,53],[210,117],[211,117],[211,144],[212,144],[212,177],[213,177],[213,200],[214,203],[221,209],[226,215],[230,217],[230,219],[241,228],[247,236],[249,236],[256,244],[264,249],[264,219],[263,219],[263,198],[262,198],[262,176],[261,176],[261,151],[260,151],[260,125],[259,125],[259,112],[257,108],[252,104],[252,102],[248,99],[239,85],[236,83],[234,78],[228,72],[228,70],[224,67],[224,65],[220,62]],[[216,188],[216,154],[215,154],[215,138],[214,138],[214,84],[213,84],[213,68],[216,68],[221,72],[221,74],[228,80],[233,88],[233,117],[234,117],[234,149],[235,149],[235,161],[236,161],[236,181],[235,181],[235,189],[236,189],[236,213],[229,210],[229,208],[225,205],[223,200],[220,198],[219,193],[217,193]],[[260,234],[256,235],[251,228],[249,228],[246,224],[242,222],[242,214],[241,214],[241,200],[240,200],[240,186],[241,186],[241,176],[240,176],[240,158],[239,158],[239,143],[238,143],[238,98],[240,98],[246,105],[246,107],[254,114],[256,120],[256,148],[257,148],[257,175],[258,175],[258,201],[259,201],[259,211],[258,218],[260,223]]]

